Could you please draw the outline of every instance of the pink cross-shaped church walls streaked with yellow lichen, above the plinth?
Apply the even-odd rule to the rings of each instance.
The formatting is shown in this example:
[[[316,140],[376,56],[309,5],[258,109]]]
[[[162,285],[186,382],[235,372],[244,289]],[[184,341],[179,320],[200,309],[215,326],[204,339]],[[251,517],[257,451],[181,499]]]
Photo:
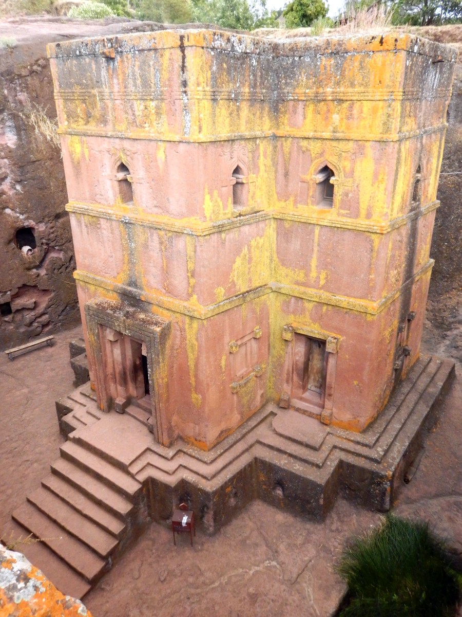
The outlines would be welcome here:
[[[138,368],[151,349],[137,396],[161,444],[210,449],[281,399],[362,431],[419,357],[455,51],[390,32],[111,44],[48,48],[100,407],[137,373],[92,313],[111,299],[171,324],[111,322]]]

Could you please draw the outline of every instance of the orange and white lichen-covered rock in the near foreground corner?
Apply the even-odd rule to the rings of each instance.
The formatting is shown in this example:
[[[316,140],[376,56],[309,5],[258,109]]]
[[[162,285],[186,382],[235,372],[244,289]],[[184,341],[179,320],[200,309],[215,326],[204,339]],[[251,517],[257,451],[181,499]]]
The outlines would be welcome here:
[[[2,545],[0,607],[9,617],[91,617],[80,600],[63,595],[22,553]]]

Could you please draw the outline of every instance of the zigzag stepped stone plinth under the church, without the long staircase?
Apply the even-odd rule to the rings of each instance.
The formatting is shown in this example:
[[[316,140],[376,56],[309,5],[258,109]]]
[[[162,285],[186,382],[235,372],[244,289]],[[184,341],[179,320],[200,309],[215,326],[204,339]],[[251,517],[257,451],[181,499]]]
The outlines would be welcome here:
[[[67,409],[79,402],[60,426],[71,441],[145,484],[156,521],[169,520],[185,501],[213,533],[252,499],[322,520],[338,494],[389,509],[453,375],[453,362],[420,358],[363,433],[268,404],[209,452],[182,441],[165,448],[133,416],[99,412],[89,384],[68,397]],[[63,401],[58,407],[60,415]]]

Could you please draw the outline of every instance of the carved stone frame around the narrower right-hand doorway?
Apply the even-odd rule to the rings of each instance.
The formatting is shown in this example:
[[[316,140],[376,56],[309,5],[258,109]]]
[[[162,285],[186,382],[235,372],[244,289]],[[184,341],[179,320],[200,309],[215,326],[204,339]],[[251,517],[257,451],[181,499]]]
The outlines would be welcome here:
[[[293,394],[294,371],[296,370],[296,334],[317,341],[325,341],[325,385],[318,403],[303,400],[300,397],[291,399]],[[307,328],[300,324],[286,324],[282,329],[282,338],[286,341],[285,362],[283,366],[283,391],[280,397],[280,407],[293,404],[303,412],[319,417],[325,424],[330,424],[333,414],[334,386],[337,368],[337,356],[341,337],[338,334],[324,330]]]

